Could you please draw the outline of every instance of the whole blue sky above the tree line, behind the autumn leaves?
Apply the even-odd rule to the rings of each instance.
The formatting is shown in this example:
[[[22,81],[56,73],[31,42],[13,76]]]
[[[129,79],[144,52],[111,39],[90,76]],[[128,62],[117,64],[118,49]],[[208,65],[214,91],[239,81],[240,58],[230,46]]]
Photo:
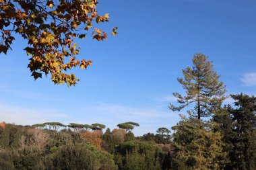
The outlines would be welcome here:
[[[110,13],[100,27],[118,26],[119,34],[79,42],[81,58],[93,64],[73,70],[76,87],[54,85],[49,77],[34,81],[22,38],[0,55],[0,122],[98,122],[113,129],[133,121],[140,124],[135,135],[170,128],[179,121],[168,109],[172,92],[184,92],[177,77],[197,52],[210,56],[228,94],[256,94],[255,1],[99,2],[99,13]]]

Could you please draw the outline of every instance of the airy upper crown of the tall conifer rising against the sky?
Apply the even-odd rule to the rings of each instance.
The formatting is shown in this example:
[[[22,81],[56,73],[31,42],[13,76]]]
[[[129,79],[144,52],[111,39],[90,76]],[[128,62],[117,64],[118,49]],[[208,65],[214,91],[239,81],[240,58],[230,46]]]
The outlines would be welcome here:
[[[208,56],[203,54],[195,54],[192,60],[193,67],[183,69],[184,78],[178,78],[178,81],[186,90],[186,95],[173,93],[180,105],[175,106],[170,103],[170,110],[181,111],[193,103],[194,108],[188,112],[191,116],[200,119],[211,116],[221,107],[222,101],[226,99],[226,86],[219,81],[220,75],[217,75],[212,62],[207,61],[207,58]]]

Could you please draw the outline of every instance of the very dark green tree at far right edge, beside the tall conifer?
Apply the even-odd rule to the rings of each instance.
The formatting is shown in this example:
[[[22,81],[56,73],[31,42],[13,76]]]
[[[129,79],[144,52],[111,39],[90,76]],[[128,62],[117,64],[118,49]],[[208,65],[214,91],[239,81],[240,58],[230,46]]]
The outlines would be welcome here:
[[[256,97],[231,95],[235,100],[225,112],[214,116],[224,136],[228,152],[226,167],[230,169],[256,169]]]

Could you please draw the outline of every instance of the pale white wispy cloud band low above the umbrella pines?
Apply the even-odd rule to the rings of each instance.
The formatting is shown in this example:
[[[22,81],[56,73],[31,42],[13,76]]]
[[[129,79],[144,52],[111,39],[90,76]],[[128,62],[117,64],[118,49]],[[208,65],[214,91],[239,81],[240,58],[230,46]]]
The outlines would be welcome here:
[[[54,110],[34,110],[16,107],[15,105],[0,104],[0,122],[5,121],[15,124],[36,124],[43,122],[61,122],[69,124],[105,124],[108,128],[117,128],[122,122],[137,122],[140,124],[133,132],[142,135],[147,132],[156,132],[164,126],[170,128],[179,121],[179,114],[170,112],[168,108],[135,108],[126,105],[113,105],[100,103],[77,108],[74,112],[56,112]]]

